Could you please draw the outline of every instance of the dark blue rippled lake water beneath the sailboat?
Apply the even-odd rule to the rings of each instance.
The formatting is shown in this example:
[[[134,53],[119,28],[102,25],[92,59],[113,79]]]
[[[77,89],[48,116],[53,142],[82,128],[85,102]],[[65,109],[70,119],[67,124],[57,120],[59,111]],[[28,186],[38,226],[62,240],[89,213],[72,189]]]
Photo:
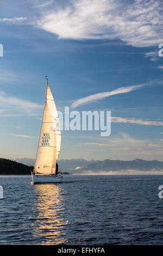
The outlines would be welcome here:
[[[32,185],[1,176],[0,244],[161,245],[163,176],[65,175]]]

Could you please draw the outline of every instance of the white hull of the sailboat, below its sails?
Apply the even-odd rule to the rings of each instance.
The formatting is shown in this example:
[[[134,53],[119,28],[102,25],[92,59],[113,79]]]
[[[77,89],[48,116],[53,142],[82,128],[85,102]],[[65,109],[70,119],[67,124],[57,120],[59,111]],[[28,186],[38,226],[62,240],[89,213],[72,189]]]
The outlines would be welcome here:
[[[62,181],[62,176],[38,175],[32,173],[33,184],[37,183],[59,183]]]

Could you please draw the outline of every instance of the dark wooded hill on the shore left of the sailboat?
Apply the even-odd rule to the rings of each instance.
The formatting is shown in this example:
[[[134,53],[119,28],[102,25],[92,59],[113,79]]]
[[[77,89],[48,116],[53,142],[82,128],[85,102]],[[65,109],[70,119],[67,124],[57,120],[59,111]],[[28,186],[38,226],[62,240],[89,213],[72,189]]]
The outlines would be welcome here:
[[[0,175],[30,175],[32,166],[26,166],[9,159],[0,159]]]

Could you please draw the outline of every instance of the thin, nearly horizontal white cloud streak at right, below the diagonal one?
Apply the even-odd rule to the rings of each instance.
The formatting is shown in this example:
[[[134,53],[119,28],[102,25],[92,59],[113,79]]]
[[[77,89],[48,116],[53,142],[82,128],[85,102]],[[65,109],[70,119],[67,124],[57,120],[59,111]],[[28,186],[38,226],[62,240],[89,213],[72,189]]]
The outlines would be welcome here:
[[[148,119],[122,118],[122,117],[111,117],[111,123],[128,123],[128,124],[156,125],[156,126],[163,125],[163,122],[161,121],[151,121]]]

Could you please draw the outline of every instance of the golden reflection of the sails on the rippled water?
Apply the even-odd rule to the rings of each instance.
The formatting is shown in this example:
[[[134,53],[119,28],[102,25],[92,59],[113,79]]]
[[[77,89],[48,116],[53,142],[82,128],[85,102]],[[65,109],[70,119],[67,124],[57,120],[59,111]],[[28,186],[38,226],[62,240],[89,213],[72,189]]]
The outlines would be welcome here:
[[[64,227],[68,221],[64,218],[63,190],[57,184],[37,184],[33,186],[35,195],[34,211],[37,212],[32,224],[33,237],[37,244],[57,245],[66,242]]]

